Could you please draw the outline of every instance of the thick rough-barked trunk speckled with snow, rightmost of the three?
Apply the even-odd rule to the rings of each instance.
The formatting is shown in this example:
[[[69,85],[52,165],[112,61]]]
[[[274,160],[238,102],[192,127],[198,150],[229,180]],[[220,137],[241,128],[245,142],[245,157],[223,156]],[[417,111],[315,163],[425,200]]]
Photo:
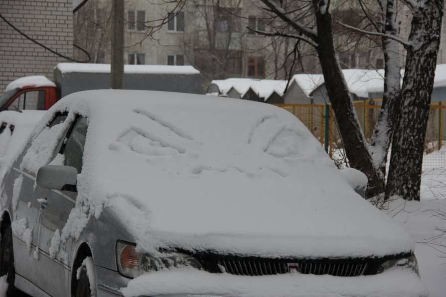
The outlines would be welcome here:
[[[421,2],[418,2],[421,3]],[[386,198],[420,200],[421,170],[443,17],[443,0],[413,8],[406,70],[395,127]]]

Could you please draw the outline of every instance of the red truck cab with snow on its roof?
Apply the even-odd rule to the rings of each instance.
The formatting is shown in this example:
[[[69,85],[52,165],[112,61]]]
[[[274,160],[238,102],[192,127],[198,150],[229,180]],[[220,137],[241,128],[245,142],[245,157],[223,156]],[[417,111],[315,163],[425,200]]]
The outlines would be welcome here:
[[[44,76],[27,76],[11,82],[0,97],[2,110],[47,110],[58,99],[56,85]]]

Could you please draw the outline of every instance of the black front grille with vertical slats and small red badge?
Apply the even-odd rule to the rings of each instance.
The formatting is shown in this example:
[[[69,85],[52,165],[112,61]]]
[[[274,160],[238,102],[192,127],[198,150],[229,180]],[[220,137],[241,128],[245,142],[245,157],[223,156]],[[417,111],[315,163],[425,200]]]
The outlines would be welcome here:
[[[258,259],[217,259],[217,264],[222,272],[250,276],[298,272],[301,274],[354,277],[363,275],[367,268],[367,262],[351,260],[278,262]]]

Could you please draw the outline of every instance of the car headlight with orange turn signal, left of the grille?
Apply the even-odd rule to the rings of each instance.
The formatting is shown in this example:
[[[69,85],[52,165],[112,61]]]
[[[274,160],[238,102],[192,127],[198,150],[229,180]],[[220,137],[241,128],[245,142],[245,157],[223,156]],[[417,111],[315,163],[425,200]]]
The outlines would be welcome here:
[[[203,269],[201,263],[194,257],[177,252],[160,252],[157,256],[147,253],[138,253],[136,245],[117,241],[116,263],[119,272],[129,278],[135,278],[147,272],[193,267]]]

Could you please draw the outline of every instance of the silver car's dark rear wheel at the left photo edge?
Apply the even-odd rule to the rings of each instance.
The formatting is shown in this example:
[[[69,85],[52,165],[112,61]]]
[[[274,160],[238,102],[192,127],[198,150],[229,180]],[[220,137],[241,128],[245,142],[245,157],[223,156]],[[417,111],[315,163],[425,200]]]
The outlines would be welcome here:
[[[1,234],[0,257],[0,276],[7,275],[6,281],[8,288],[6,296],[15,296],[17,292],[14,288],[15,268],[14,252],[12,250],[12,229],[10,224],[5,226]]]

